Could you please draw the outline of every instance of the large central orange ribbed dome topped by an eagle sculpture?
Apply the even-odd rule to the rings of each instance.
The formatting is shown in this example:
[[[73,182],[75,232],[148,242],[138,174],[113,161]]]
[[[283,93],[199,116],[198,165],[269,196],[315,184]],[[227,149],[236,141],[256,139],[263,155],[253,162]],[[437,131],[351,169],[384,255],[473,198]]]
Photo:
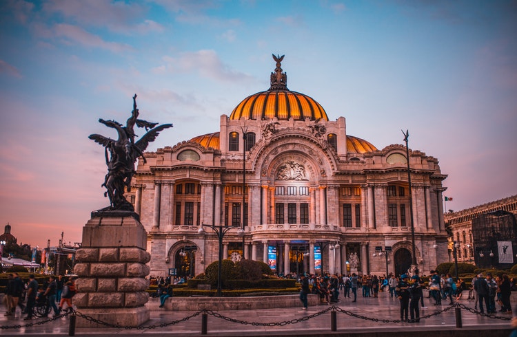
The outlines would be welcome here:
[[[287,89],[287,74],[282,72],[283,56],[274,56],[276,68],[271,73],[271,87],[267,91],[248,96],[230,114],[230,120],[241,117],[250,120],[329,120],[325,109],[313,98]]]

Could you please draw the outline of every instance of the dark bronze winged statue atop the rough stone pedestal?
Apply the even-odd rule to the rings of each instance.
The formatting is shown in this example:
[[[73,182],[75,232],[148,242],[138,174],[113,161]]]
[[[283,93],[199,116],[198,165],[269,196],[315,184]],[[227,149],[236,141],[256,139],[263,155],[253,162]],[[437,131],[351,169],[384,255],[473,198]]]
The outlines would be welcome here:
[[[110,206],[102,210],[129,210],[134,211],[133,205],[124,197],[124,190],[127,188],[131,191],[131,180],[136,173],[134,164],[138,157],[142,157],[145,162],[143,152],[147,149],[150,142],[154,142],[160,131],[172,127],[172,124],[151,123],[145,120],[137,119],[139,109],[136,109],[136,94],[133,96],[133,111],[130,118],[126,122],[126,126],[114,120],[99,119],[99,122],[106,127],[116,129],[119,138],[113,140],[99,134],[89,135],[88,138],[104,146],[104,155],[108,173],[104,178],[103,187],[106,188],[105,197],[110,199]],[[134,133],[134,125],[137,127],[145,127],[147,133],[135,142],[134,138],[138,137]],[[148,129],[150,129],[148,131]]]

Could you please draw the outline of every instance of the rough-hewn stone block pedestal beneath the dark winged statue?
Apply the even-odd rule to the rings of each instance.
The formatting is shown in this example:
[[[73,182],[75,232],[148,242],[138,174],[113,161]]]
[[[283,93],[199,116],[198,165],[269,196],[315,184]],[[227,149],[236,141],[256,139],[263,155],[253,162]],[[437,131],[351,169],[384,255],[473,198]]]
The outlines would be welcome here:
[[[125,211],[92,213],[83,228],[74,272],[77,311],[105,323],[138,327],[150,318],[145,307],[149,295],[150,254],[147,233],[138,215]],[[105,327],[77,317],[77,327]]]

